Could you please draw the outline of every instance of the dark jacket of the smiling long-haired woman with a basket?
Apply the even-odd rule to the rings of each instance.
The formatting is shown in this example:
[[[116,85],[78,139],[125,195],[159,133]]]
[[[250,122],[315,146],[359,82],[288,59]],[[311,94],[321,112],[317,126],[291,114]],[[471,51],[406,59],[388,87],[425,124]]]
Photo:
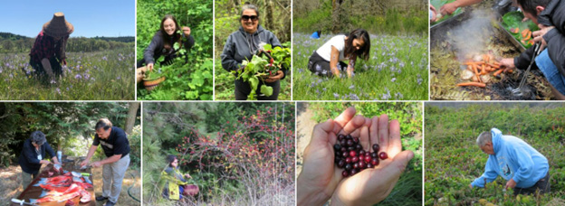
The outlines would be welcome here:
[[[183,37],[184,36],[185,34],[183,33]],[[177,42],[178,38],[182,38],[182,37],[174,37],[172,39],[171,45],[173,45],[174,42]],[[190,48],[194,46],[195,42],[192,35],[189,35],[188,38],[183,38],[182,43],[183,43],[183,48],[186,49],[188,52],[190,51]],[[145,51],[143,52],[143,59],[145,60],[146,64],[155,63],[155,61],[158,60],[159,57],[165,55],[166,57],[165,61],[170,61],[173,59],[173,55],[175,53],[177,53],[177,51],[175,51],[174,48],[171,48],[171,51],[165,50],[165,39],[163,38],[163,33],[161,33],[161,31],[158,31],[157,33],[155,33],[155,35],[153,35],[153,40],[151,40],[151,43],[149,43],[148,48],[145,49]]]

